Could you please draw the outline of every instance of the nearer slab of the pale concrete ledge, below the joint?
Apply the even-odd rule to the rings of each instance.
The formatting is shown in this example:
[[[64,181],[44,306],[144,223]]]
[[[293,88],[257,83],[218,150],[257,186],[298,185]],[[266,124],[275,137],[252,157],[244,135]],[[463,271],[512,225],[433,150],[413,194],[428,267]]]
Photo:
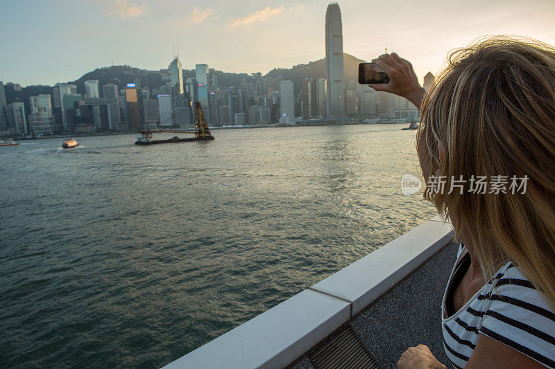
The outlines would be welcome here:
[[[284,368],[348,321],[349,310],[305,289],[164,368]]]

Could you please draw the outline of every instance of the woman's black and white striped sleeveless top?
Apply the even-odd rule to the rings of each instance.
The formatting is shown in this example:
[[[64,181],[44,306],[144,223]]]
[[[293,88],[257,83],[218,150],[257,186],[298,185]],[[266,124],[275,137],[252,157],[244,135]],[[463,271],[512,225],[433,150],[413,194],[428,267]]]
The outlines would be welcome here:
[[[468,266],[470,257],[461,243],[441,308],[443,347],[453,366],[466,366],[479,334],[484,334],[555,368],[555,312],[512,262],[453,311],[452,289]]]

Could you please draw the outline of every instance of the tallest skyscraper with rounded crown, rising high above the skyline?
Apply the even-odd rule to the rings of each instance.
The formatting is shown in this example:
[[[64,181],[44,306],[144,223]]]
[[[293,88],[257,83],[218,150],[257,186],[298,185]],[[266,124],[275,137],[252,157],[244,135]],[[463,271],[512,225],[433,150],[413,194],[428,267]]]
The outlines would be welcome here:
[[[345,115],[345,84],[343,82],[343,26],[341,10],[330,3],[325,12],[325,77],[327,84],[326,109],[328,118]]]

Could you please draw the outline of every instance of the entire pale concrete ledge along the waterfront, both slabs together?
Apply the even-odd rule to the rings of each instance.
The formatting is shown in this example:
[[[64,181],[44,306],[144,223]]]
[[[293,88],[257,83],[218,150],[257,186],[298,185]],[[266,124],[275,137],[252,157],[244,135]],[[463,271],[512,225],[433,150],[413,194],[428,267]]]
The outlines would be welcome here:
[[[284,368],[452,240],[436,217],[164,368]]]

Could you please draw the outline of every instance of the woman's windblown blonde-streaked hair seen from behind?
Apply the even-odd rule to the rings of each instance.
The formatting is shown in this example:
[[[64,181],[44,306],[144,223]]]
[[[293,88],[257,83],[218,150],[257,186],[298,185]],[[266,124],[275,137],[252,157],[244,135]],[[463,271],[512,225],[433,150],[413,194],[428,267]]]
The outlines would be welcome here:
[[[490,37],[453,51],[420,121],[425,179],[446,176],[447,189],[460,176],[528,177],[524,194],[470,193],[467,182],[425,197],[457,238],[466,227],[486,280],[509,259],[555,307],[555,48]]]

